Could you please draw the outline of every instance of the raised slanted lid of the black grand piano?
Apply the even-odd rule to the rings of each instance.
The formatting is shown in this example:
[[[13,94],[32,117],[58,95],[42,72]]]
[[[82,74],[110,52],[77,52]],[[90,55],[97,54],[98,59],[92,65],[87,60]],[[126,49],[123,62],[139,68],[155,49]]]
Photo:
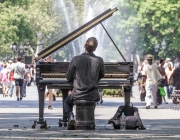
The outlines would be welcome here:
[[[58,49],[62,48],[64,45],[68,44],[72,40],[75,40],[77,37],[81,36],[88,30],[92,29],[93,27],[95,27],[96,25],[101,23],[102,21],[104,21],[107,18],[109,18],[110,16],[112,16],[112,14],[114,12],[116,12],[117,10],[118,10],[117,8],[114,8],[112,10],[111,9],[106,10],[99,16],[95,17],[94,19],[90,20],[86,24],[84,24],[81,27],[79,27],[78,29],[74,30],[73,32],[71,32],[67,36],[63,37],[59,41],[55,42],[51,46],[49,46],[49,47],[45,48],[44,50],[42,50],[41,52],[39,52],[38,57],[35,58],[35,61],[38,61],[41,58],[47,57],[48,55],[50,55],[53,52],[57,51]]]

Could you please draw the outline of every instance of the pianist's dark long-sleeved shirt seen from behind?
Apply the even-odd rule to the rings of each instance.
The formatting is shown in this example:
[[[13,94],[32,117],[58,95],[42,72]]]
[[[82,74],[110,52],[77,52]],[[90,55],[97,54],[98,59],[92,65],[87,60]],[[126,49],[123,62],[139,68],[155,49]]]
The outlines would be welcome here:
[[[86,52],[76,56],[70,63],[66,77],[68,81],[73,81],[74,99],[97,100],[98,81],[104,77],[103,59]]]

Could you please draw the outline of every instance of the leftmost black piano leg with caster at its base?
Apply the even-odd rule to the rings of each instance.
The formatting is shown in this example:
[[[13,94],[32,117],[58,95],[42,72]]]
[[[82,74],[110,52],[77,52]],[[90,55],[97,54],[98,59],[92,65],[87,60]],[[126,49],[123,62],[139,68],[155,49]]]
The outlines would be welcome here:
[[[39,121],[34,121],[32,128],[36,127],[36,124],[41,124],[40,128],[45,128],[47,126],[46,121],[44,121],[44,93],[45,85],[38,85],[38,96],[39,96]]]

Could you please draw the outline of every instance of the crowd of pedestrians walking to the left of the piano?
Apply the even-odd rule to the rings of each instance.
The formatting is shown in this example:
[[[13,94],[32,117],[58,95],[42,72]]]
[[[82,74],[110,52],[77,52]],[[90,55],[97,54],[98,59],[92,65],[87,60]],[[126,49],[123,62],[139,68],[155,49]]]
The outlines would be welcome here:
[[[12,97],[16,87],[17,101],[26,97],[26,86],[36,84],[36,69],[33,64],[24,64],[21,57],[14,62],[0,62],[0,84],[2,85],[3,97]]]

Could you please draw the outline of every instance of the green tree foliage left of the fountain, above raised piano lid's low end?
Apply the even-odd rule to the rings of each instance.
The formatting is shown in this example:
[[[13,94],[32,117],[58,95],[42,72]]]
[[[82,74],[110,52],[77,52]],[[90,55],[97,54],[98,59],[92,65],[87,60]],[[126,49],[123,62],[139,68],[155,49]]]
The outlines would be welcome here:
[[[49,14],[52,0],[7,0],[0,2],[0,53],[10,54],[10,45],[36,44],[55,26]],[[37,39],[37,34],[42,36]],[[36,47],[36,45],[34,46]]]

